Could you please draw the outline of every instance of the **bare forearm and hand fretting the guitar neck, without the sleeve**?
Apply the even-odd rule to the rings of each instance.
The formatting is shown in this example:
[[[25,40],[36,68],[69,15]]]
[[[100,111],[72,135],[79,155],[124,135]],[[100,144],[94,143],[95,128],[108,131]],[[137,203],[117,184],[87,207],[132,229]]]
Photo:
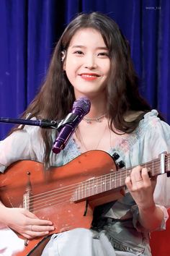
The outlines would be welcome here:
[[[139,223],[145,229],[153,231],[161,227],[164,213],[153,200],[155,181],[151,181],[146,168],[133,168],[125,181],[130,194],[138,205]]]

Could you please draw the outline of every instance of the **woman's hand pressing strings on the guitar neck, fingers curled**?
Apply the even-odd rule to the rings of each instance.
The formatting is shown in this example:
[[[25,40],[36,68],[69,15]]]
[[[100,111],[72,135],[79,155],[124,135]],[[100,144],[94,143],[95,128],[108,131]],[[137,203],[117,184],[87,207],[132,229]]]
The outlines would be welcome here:
[[[155,205],[153,192],[156,186],[156,180],[151,181],[147,168],[142,168],[141,166],[133,168],[130,176],[125,179],[125,184],[138,208],[144,210],[152,208]]]

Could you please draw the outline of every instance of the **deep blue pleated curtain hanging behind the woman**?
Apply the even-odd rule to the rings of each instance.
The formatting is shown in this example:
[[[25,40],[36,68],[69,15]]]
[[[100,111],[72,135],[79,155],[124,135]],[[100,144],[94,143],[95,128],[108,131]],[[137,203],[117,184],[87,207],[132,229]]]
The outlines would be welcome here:
[[[0,0],[0,116],[17,118],[32,101],[55,43],[79,12],[108,14],[128,38],[140,93],[170,123],[169,0]],[[0,123],[0,139],[12,124]]]

